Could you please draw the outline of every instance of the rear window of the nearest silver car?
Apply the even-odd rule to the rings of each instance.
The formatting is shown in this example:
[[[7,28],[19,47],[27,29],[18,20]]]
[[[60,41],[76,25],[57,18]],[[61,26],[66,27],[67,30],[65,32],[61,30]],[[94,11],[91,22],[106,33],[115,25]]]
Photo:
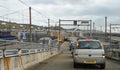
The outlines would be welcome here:
[[[101,45],[98,41],[80,41],[77,49],[101,49]]]

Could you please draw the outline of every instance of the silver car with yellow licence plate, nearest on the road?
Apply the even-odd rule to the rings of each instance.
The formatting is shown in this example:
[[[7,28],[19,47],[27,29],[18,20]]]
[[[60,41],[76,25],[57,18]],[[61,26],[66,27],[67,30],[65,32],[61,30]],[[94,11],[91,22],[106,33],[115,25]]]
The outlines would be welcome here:
[[[79,64],[100,65],[105,68],[104,48],[99,40],[78,40],[77,47],[73,51],[74,68]]]

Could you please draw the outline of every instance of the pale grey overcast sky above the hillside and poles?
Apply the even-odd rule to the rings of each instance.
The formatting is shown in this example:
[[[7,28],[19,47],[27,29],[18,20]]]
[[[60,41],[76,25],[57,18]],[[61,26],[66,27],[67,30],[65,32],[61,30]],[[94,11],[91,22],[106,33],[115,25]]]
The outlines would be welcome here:
[[[108,24],[119,24],[120,0],[22,0],[29,6],[41,12],[39,15],[32,12],[33,23],[44,25],[47,18],[55,21],[58,19],[87,19],[92,20],[96,25],[104,25],[104,17],[108,17]],[[24,10],[25,9],[25,10]],[[20,10],[22,14],[12,14],[6,17],[16,22],[28,21],[28,7],[18,0],[0,0],[0,16]],[[14,17],[13,17],[14,16]],[[46,17],[45,17],[46,16]],[[3,18],[1,18],[3,19]],[[17,20],[18,19],[18,20]],[[4,19],[5,20],[5,19]],[[39,23],[38,23],[39,22]],[[41,23],[40,23],[41,22]],[[54,25],[55,23],[52,22]]]

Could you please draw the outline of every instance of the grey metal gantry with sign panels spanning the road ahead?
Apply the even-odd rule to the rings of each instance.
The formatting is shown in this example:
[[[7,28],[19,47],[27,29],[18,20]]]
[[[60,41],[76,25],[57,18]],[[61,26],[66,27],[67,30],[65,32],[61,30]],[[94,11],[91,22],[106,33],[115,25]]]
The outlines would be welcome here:
[[[62,24],[61,21],[71,21],[73,24]],[[92,20],[59,20],[59,36],[61,26],[89,26],[89,36],[92,37]]]

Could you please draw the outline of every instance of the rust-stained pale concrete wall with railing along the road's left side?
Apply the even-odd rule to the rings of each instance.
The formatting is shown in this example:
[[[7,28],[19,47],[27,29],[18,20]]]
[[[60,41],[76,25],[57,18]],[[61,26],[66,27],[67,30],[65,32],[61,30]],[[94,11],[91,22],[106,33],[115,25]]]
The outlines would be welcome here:
[[[59,53],[57,48],[32,49],[32,52],[31,49],[27,50],[29,52],[26,53],[22,49],[18,53],[16,50],[14,53],[9,51],[9,54],[6,50],[0,50],[0,70],[25,70]]]

